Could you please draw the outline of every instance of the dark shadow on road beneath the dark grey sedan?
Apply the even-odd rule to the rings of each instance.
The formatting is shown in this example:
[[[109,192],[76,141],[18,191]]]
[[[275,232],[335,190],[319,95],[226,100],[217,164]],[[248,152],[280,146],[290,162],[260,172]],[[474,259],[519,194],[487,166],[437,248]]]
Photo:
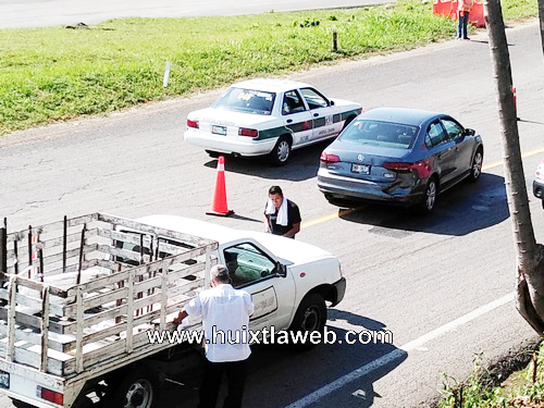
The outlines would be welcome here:
[[[461,236],[498,224],[509,217],[504,178],[482,174],[478,183],[460,183],[438,196],[433,214],[386,205],[339,210],[346,221],[374,225],[373,234],[401,238],[415,232]]]

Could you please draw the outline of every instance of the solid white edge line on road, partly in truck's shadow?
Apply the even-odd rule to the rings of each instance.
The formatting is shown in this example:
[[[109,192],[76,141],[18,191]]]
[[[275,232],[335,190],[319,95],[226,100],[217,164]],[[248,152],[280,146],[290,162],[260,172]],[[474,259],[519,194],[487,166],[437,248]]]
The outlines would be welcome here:
[[[311,394],[308,394],[306,397],[304,398],[300,398],[299,400],[290,404],[287,406],[287,408],[300,408],[300,407],[308,407],[312,404],[316,404],[317,401],[319,401],[320,399],[322,399],[323,397],[325,397],[326,395],[342,388],[344,385],[357,380],[357,379],[360,379],[361,376],[364,376],[367,374],[369,374],[370,372],[385,366],[385,364],[388,364],[390,362],[392,361],[395,361],[396,359],[398,358],[401,358],[403,356],[405,356],[407,353],[410,353],[410,351],[413,351],[420,347],[422,347],[425,343],[429,343],[431,342],[432,339],[435,339],[436,337],[440,337],[442,336],[443,334],[447,333],[447,332],[450,332],[492,310],[495,310],[497,308],[499,308],[500,306],[504,306],[510,301],[514,300],[514,295],[515,293],[511,292],[509,293],[508,295],[505,295],[496,300],[493,300],[492,302],[487,304],[487,305],[484,305],[475,310],[472,310],[471,312],[465,314],[465,316],[461,316],[460,318],[449,322],[449,323],[446,323],[444,324],[443,326],[440,326],[435,330],[433,330],[432,332],[429,332],[424,335],[422,335],[421,337],[418,337],[416,338],[415,341],[412,342],[409,342],[407,344],[405,344],[404,346],[391,351],[391,353],[387,353],[386,355],[380,357],[379,359],[376,360],[373,360],[371,362],[369,362],[368,364],[364,364],[354,371],[351,371],[350,373],[347,373],[343,376],[341,376],[339,379],[333,381],[332,383],[329,383],[326,385],[323,385],[321,388],[314,391],[313,393]]]

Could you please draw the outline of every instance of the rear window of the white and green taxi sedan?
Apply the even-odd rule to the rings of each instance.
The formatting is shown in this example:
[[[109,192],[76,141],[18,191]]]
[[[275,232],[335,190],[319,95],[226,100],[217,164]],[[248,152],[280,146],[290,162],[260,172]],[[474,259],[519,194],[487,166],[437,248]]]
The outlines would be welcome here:
[[[272,113],[274,100],[273,92],[231,87],[212,104],[212,108],[269,115]]]

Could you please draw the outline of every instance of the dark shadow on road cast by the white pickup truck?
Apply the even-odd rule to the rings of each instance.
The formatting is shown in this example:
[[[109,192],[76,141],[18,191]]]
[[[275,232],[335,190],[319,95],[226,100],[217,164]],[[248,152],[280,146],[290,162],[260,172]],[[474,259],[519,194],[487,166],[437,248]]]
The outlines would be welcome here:
[[[345,320],[357,326],[354,327],[357,331],[385,327],[381,322],[343,310],[331,309],[329,320]],[[346,330],[331,326],[327,326],[327,330],[334,333],[337,339],[343,339],[343,343],[320,345],[304,353],[296,353],[282,345],[252,346],[244,406],[285,407],[338,379],[345,380],[342,381],[342,386],[336,388],[342,388],[344,398],[347,398],[343,400],[343,407],[372,406],[374,398],[380,397],[373,391],[373,382],[398,367],[407,358],[406,351],[380,342],[368,345],[346,344]],[[372,369],[364,367],[378,359],[383,363],[372,366]],[[354,371],[360,368],[363,368],[363,375],[354,374]],[[349,380],[346,378],[348,374]],[[176,375],[173,379],[176,383],[166,383],[159,406],[196,407],[201,375],[202,363]],[[224,385],[223,381],[220,401],[226,394]],[[324,400],[323,406],[327,406]]]

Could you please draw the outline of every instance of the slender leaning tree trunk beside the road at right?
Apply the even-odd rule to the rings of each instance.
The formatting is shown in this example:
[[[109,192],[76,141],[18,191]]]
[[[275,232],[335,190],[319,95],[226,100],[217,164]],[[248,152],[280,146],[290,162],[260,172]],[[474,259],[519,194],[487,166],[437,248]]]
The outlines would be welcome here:
[[[539,1],[544,3],[544,0]],[[484,12],[498,98],[506,195],[516,246],[516,306],[528,323],[544,336],[544,247],[536,244],[531,222],[500,1],[484,1]]]

